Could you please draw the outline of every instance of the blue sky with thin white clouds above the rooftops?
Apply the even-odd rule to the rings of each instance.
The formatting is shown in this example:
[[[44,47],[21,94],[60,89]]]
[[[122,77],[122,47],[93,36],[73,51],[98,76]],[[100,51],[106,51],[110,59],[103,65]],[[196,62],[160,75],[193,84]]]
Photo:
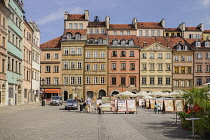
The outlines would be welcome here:
[[[63,34],[64,12],[83,14],[89,10],[90,20],[99,16],[104,21],[110,17],[111,24],[166,20],[167,28],[176,28],[182,22],[187,27],[204,23],[210,30],[210,0],[25,0],[24,10],[41,30],[41,43]]]

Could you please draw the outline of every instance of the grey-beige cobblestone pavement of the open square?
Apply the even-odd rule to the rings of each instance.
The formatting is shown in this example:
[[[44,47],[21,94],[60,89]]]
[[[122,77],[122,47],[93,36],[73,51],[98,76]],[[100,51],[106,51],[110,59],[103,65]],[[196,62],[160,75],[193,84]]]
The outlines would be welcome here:
[[[175,114],[81,113],[40,104],[0,107],[0,140],[189,140]],[[179,120],[178,120],[179,123]],[[201,139],[199,137],[195,139]]]

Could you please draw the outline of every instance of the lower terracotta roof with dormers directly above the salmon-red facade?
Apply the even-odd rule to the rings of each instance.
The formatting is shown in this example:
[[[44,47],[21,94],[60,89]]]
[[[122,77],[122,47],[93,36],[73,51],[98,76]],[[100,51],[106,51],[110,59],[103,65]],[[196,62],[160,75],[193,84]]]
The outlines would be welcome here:
[[[108,39],[109,45],[112,45],[112,41],[114,39],[117,39],[117,40],[125,39],[126,41],[130,40],[130,39],[133,39],[135,46],[139,46],[138,39],[137,39],[137,37],[135,35],[127,35],[127,36],[123,36],[123,35],[119,35],[119,36],[117,36],[117,35],[109,35],[108,38],[109,38]]]

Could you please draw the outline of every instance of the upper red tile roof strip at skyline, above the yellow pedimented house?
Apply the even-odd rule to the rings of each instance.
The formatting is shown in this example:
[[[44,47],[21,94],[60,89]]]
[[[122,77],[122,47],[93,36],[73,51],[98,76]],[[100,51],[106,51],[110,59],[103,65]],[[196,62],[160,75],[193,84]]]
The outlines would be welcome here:
[[[137,28],[163,29],[160,22],[137,22]]]

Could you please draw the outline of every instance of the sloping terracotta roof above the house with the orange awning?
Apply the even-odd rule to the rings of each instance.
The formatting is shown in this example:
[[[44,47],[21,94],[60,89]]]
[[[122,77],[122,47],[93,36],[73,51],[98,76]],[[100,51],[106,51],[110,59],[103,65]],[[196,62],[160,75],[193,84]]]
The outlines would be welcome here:
[[[46,48],[60,48],[61,47],[61,37],[62,36],[59,36],[57,38],[54,38],[48,42],[45,42],[45,43],[42,43],[40,45],[40,49],[46,49]]]

